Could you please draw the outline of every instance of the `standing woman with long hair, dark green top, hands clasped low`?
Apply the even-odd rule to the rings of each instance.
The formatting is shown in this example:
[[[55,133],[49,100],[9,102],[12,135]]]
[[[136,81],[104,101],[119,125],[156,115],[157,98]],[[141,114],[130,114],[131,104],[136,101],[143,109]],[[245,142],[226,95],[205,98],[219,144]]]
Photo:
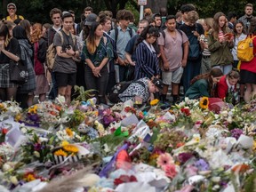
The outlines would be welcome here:
[[[107,103],[106,88],[108,85],[108,60],[113,57],[113,47],[103,36],[99,22],[92,24],[89,36],[85,40],[81,59],[85,60],[85,84],[87,89],[98,91],[98,103]]]

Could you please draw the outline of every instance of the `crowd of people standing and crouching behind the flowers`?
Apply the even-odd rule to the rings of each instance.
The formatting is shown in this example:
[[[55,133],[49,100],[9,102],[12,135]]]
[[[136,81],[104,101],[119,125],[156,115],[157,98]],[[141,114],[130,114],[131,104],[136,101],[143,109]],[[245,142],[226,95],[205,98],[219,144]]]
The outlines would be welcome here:
[[[147,102],[155,96],[168,102],[170,87],[173,103],[180,100],[180,87],[190,99],[224,100],[238,93],[236,102],[248,102],[256,95],[255,57],[237,58],[238,42],[256,36],[252,4],[239,19],[236,12],[199,19],[194,4],[183,4],[175,15],[164,7],[159,13],[147,8],[138,27],[129,10],[119,10],[113,19],[112,12],[97,15],[86,7],[76,23],[74,11],[53,8],[52,24],[29,22],[16,11],[8,4],[9,15],[0,23],[0,100],[17,100],[22,108],[33,105],[35,95],[46,100],[48,92],[48,99],[62,95],[69,104],[74,85],[95,90],[98,103],[108,104],[111,88],[124,81],[133,82],[120,93],[122,101]],[[49,68],[51,44],[56,56]],[[11,81],[12,60],[26,64],[25,84]]]

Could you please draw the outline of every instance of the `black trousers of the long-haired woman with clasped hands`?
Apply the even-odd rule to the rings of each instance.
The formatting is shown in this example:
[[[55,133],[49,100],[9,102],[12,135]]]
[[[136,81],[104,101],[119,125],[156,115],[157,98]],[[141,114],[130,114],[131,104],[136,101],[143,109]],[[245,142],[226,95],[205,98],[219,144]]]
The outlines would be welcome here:
[[[90,68],[88,65],[85,66],[85,84],[87,90],[94,89],[98,91],[97,98],[98,103],[104,103],[107,104],[106,101],[106,89],[108,85],[108,67],[105,65],[100,70],[100,77],[93,76],[92,68]]]

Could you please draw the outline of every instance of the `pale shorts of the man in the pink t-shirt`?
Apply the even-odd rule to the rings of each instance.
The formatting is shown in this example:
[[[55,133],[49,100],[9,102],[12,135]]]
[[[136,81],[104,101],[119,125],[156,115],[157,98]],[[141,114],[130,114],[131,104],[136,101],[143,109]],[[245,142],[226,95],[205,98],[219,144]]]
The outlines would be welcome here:
[[[171,85],[173,84],[180,84],[180,79],[183,74],[183,68],[177,68],[175,71],[163,71],[162,72],[162,79],[164,84]]]

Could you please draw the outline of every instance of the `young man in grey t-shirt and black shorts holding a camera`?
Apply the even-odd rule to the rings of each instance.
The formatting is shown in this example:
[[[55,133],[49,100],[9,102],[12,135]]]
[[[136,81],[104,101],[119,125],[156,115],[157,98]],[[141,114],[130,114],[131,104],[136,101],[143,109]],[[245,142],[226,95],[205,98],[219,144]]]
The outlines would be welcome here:
[[[56,46],[56,59],[53,73],[58,87],[58,94],[64,96],[67,104],[71,101],[71,89],[76,84],[76,58],[79,55],[76,38],[70,30],[74,24],[74,18],[69,12],[63,12],[61,17],[63,28],[56,33],[53,44]],[[60,33],[63,36],[61,40]]]

